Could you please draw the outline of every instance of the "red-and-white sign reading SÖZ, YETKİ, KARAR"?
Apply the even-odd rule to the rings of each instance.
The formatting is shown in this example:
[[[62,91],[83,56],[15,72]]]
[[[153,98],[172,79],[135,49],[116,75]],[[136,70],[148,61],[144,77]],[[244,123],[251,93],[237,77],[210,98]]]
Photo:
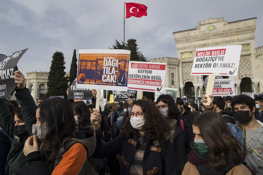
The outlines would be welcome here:
[[[130,61],[128,90],[163,92],[166,63]]]

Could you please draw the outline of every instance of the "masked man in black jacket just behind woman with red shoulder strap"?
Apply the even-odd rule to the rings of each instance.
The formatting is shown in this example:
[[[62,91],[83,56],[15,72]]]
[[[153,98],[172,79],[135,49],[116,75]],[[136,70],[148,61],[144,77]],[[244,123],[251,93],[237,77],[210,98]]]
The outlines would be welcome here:
[[[176,99],[176,104],[179,109],[179,112],[181,113],[181,120],[186,121],[187,123],[191,124],[193,118],[194,118],[194,113],[191,112],[191,109],[188,106],[184,105],[184,100],[177,97]]]

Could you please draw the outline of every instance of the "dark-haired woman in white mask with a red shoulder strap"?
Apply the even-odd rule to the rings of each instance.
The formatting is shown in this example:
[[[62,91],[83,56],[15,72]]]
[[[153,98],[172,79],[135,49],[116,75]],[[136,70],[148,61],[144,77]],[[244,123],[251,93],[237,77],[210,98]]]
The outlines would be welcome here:
[[[162,94],[158,97],[156,103],[158,109],[168,119],[169,125],[172,128],[170,141],[174,149],[177,169],[180,172],[178,174],[180,175],[187,162],[188,153],[193,150],[191,148],[193,129],[189,123],[180,120],[180,113],[172,96]]]

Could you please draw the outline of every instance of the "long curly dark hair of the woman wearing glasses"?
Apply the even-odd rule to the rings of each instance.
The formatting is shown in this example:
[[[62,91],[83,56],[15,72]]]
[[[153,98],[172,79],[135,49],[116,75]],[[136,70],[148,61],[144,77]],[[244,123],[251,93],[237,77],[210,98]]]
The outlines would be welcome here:
[[[144,130],[145,140],[150,141],[151,139],[157,139],[161,144],[166,143],[171,134],[171,128],[168,120],[163,117],[155,104],[147,100],[133,101],[133,104],[140,106],[144,113],[144,125],[142,129]],[[133,135],[133,133],[129,131],[129,128],[133,127],[131,126],[130,118],[127,117],[121,127],[122,139],[128,139]],[[134,129],[134,134],[138,135],[139,131]]]

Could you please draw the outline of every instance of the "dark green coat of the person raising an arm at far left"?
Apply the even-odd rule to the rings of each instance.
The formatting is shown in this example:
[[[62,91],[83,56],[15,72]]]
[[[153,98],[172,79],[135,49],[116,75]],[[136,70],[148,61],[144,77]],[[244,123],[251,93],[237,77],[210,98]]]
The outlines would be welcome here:
[[[29,89],[16,89],[15,97],[18,99],[18,103],[21,106],[23,120],[25,127],[29,132],[29,136],[32,136],[32,125],[37,123],[36,110],[37,106],[34,102]],[[14,119],[12,114],[4,102],[4,99],[0,99],[0,126],[12,139],[11,150],[9,151],[6,161],[6,175],[14,175],[19,169],[20,164],[25,160],[23,148],[27,137],[20,139],[14,135]]]

